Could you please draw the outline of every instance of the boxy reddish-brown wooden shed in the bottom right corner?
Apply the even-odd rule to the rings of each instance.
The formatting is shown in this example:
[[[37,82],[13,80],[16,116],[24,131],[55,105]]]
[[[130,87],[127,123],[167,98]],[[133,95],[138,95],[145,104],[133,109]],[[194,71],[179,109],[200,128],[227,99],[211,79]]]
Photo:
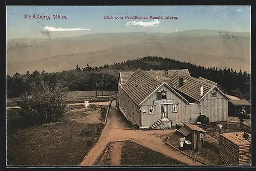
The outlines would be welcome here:
[[[231,132],[220,135],[220,160],[227,165],[251,164],[251,135]]]

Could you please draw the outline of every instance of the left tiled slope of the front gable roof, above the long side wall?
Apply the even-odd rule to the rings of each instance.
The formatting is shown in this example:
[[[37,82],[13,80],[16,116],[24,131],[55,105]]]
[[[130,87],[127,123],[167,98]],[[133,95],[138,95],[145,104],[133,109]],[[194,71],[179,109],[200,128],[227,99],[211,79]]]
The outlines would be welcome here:
[[[123,91],[138,106],[148,95],[161,86],[161,82],[141,70],[135,70],[123,84]]]

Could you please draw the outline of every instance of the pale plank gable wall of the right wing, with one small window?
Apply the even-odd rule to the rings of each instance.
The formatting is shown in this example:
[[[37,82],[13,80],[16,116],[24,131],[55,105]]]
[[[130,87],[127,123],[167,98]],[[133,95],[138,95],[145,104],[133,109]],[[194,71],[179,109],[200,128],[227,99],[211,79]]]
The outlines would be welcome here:
[[[220,91],[217,90],[216,93],[212,97],[209,92],[200,102],[201,114],[209,117],[210,123],[228,120],[228,99]]]

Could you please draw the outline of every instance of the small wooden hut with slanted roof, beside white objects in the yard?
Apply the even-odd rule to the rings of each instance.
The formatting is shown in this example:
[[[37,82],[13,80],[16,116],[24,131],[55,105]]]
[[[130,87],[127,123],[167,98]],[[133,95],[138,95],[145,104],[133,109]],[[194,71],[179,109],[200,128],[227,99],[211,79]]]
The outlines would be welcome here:
[[[204,145],[205,130],[188,123],[183,123],[183,127],[177,130],[182,136],[186,137],[192,143],[192,150],[197,150]]]

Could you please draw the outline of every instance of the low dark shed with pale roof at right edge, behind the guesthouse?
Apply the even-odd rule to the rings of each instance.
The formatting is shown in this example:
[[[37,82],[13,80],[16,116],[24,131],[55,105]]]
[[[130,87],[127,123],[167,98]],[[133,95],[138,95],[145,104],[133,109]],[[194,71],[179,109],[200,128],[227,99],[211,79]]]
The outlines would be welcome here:
[[[241,100],[238,97],[226,95],[228,97],[228,115],[236,116],[241,111],[251,113],[251,104],[245,99]]]

